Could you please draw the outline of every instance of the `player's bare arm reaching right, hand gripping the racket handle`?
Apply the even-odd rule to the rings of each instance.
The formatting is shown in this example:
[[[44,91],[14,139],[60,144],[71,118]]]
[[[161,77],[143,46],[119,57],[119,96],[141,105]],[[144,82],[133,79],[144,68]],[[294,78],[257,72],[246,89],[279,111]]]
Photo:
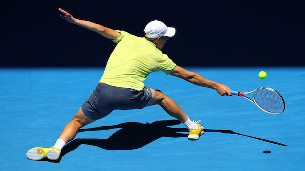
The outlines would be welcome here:
[[[179,66],[177,66],[176,70],[170,73],[170,75],[182,78],[190,83],[201,87],[215,89],[220,95],[232,95],[229,92],[229,90],[231,89],[228,86],[206,79],[198,73],[188,71]]]

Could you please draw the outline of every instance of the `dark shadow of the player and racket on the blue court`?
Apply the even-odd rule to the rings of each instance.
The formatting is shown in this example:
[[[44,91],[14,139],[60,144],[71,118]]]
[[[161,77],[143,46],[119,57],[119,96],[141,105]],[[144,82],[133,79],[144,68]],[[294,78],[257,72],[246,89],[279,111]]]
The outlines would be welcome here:
[[[168,126],[179,125],[181,124],[180,121],[177,120],[167,120],[167,121],[155,121],[151,124],[146,123],[137,123],[137,122],[127,122],[113,126],[103,126],[97,128],[90,128],[90,129],[80,129],[79,132],[85,131],[100,131],[100,130],[110,130],[110,129],[117,129],[121,128],[113,135],[111,135],[108,139],[83,139],[78,138],[74,139],[70,143],[68,143],[61,151],[60,157],[58,160],[48,160],[51,162],[60,162],[61,158],[66,155],[68,152],[75,150],[79,145],[86,144],[86,145],[94,145],[106,150],[133,150],[141,148],[161,137],[172,137],[172,138],[179,138],[179,137],[188,137],[187,133],[180,133],[180,132],[188,132],[186,128],[170,128]],[[248,135],[243,135],[239,133],[235,133],[231,130],[211,130],[205,129],[205,132],[221,132],[225,134],[237,134],[242,135],[262,141],[266,141],[269,143],[277,144],[286,146],[285,144],[277,143],[274,141],[251,137]]]

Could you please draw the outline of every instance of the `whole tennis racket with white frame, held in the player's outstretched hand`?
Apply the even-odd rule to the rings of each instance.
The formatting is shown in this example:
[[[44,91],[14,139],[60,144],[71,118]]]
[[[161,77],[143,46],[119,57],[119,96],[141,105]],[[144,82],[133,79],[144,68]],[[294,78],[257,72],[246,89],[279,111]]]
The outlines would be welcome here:
[[[237,92],[230,90],[232,95],[237,95],[244,97],[251,101],[253,104],[257,105],[263,111],[267,113],[278,115],[285,110],[285,101],[280,93],[272,88],[260,87],[249,92]],[[249,97],[244,96],[244,94],[253,93],[253,100]]]

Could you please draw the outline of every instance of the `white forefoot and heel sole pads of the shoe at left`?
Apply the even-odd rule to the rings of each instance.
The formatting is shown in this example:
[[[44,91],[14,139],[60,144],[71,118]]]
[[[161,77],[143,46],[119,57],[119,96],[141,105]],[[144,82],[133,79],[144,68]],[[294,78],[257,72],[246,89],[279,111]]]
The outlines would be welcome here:
[[[35,147],[35,148],[31,148],[30,150],[27,151],[26,156],[28,159],[31,160],[41,160],[43,158],[42,154],[38,154],[38,148],[41,147]],[[59,158],[59,152],[56,149],[50,149],[48,151],[48,158],[50,160],[56,160]]]

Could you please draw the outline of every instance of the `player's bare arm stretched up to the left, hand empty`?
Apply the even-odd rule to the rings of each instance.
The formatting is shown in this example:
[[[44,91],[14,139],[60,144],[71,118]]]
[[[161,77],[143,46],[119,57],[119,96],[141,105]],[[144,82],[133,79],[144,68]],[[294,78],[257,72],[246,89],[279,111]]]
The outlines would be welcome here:
[[[69,23],[76,24],[81,27],[87,28],[89,30],[95,31],[106,38],[109,38],[112,40],[112,39],[117,38],[120,35],[119,32],[117,32],[111,28],[104,27],[100,24],[96,24],[91,21],[76,19],[71,14],[62,10],[61,8],[59,8],[58,10],[62,13],[62,15],[60,16],[62,19],[65,19]]]

